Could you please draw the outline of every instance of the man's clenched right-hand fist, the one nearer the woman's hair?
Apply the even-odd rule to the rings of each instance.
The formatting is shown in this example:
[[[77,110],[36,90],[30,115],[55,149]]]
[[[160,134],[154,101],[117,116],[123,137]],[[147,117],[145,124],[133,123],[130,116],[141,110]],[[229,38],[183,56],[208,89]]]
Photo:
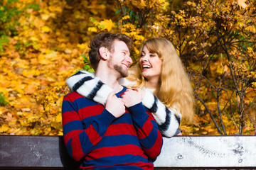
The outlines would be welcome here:
[[[122,101],[124,102],[124,106],[127,108],[136,105],[137,103],[142,102],[144,94],[142,93],[142,89],[127,89],[122,96]]]

